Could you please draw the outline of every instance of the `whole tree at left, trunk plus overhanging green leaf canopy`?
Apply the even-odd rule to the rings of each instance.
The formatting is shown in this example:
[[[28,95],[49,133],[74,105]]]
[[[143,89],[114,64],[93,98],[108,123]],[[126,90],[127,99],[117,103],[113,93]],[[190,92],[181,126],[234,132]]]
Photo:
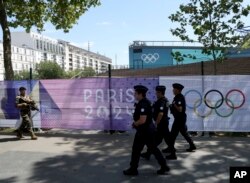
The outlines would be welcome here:
[[[46,22],[68,32],[89,8],[100,5],[99,0],[0,0],[0,25],[3,31],[4,68],[6,80],[14,78],[11,64],[10,27],[32,27],[43,31]]]

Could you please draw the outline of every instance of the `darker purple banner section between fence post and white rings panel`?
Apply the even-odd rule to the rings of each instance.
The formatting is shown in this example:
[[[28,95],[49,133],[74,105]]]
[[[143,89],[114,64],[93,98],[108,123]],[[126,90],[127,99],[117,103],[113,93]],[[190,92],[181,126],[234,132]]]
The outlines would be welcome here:
[[[138,84],[147,86],[149,89],[147,97],[153,102],[156,100],[155,87],[158,83],[158,78],[113,78],[111,80],[111,128],[114,130],[131,129],[135,103],[133,86]]]

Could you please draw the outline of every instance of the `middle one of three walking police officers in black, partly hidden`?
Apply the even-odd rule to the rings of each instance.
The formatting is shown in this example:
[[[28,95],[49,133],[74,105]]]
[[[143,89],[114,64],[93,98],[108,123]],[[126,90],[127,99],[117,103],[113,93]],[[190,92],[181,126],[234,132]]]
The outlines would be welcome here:
[[[168,128],[169,124],[169,117],[168,117],[168,107],[169,107],[169,101],[165,97],[165,86],[156,86],[155,88],[157,101],[153,105],[153,119],[155,121],[155,124],[157,126],[157,134],[156,134],[156,145],[158,146],[162,140],[166,142],[166,144],[169,146],[169,140],[170,140],[170,132]],[[149,149],[147,149],[147,152],[142,153],[141,157],[149,160],[150,159],[151,152]]]

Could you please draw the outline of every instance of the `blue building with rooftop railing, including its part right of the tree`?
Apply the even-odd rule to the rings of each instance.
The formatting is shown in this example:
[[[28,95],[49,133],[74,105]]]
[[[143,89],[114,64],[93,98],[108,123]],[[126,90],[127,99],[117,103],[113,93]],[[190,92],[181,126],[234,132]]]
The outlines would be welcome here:
[[[164,45],[164,43],[167,43],[168,45]],[[183,45],[169,46],[171,43],[181,43]],[[195,59],[183,57],[183,61],[177,62],[177,60],[175,60],[172,56],[172,53],[175,52],[180,52],[181,55],[192,55]],[[228,50],[226,57],[250,57],[250,50],[239,51],[238,49],[230,49]],[[184,45],[184,42],[134,41],[134,43],[129,47],[130,69],[158,68],[212,60],[212,55],[202,53],[201,46],[187,46]]]

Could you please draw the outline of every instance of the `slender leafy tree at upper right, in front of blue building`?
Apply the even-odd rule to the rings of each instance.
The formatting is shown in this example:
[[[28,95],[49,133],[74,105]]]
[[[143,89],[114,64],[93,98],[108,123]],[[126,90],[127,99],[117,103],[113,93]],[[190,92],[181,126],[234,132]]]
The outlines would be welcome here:
[[[179,10],[170,15],[172,22],[179,24],[171,29],[174,36],[182,41],[200,42],[204,48],[203,54],[212,55],[214,60],[214,74],[216,61],[224,59],[226,48],[234,47],[242,42],[236,29],[244,27],[242,17],[247,17],[250,6],[243,6],[244,0],[190,0],[182,4]],[[196,39],[191,38],[187,31],[192,28]]]

